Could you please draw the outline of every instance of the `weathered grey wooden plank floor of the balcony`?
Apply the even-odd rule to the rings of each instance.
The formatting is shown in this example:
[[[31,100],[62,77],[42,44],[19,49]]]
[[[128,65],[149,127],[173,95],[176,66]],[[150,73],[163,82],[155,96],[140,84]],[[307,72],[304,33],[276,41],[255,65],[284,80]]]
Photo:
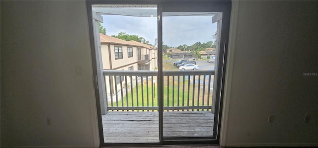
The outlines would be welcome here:
[[[159,142],[158,112],[108,112],[102,121],[105,143]],[[213,121],[210,111],[163,112],[163,136],[212,136]]]

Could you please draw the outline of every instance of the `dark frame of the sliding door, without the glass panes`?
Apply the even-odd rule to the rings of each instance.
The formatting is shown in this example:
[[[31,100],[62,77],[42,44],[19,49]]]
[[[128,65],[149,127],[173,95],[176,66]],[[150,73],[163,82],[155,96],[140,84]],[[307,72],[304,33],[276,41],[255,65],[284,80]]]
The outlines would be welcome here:
[[[157,5],[157,14],[159,17],[158,21],[158,97],[162,98],[163,96],[163,74],[162,74],[162,11],[171,12],[175,7],[186,9],[187,11],[214,11],[222,12],[222,28],[220,35],[220,49],[223,49],[219,53],[218,57],[218,67],[217,67],[217,87],[216,87],[216,103],[215,110],[216,113],[214,117],[214,132],[213,136],[215,139],[197,139],[197,138],[188,138],[188,139],[164,139],[163,138],[163,99],[159,99],[159,143],[104,143],[103,137],[103,127],[101,119],[101,102],[100,101],[100,92],[98,90],[98,59],[96,58],[97,50],[95,47],[95,39],[93,34],[93,18],[92,18],[92,4],[156,4]],[[219,145],[220,144],[220,127],[221,127],[221,117],[223,109],[223,97],[224,97],[224,82],[225,82],[225,70],[227,64],[227,53],[228,53],[228,40],[229,40],[229,28],[230,28],[230,15],[231,15],[231,0],[86,0],[87,8],[87,17],[88,17],[88,30],[90,38],[90,48],[91,48],[91,58],[92,58],[92,67],[93,67],[93,80],[94,80],[94,91],[96,97],[96,108],[97,108],[97,121],[99,128],[99,139],[100,146],[160,146],[160,145]],[[221,50],[220,50],[221,51]]]

